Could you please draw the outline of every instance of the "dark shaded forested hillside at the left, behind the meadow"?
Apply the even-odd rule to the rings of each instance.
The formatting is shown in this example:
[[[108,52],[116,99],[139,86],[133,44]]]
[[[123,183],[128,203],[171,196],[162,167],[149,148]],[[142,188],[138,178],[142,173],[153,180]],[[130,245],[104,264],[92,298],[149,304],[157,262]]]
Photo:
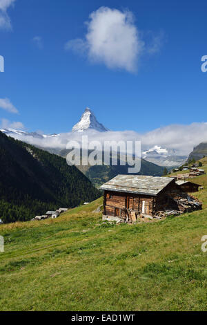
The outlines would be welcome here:
[[[92,201],[99,192],[66,160],[0,132],[0,219],[26,221],[57,207]]]

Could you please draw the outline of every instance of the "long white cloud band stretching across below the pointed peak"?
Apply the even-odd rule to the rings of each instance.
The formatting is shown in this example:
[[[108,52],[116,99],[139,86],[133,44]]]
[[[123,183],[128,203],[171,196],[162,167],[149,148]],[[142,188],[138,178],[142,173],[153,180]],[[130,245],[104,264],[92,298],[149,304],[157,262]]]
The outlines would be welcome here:
[[[173,149],[175,150],[175,154],[187,156],[193,150],[193,147],[200,142],[207,141],[207,124],[205,122],[197,122],[189,125],[172,124],[142,134],[135,131],[98,132],[93,130],[88,131],[87,134],[89,141],[97,140],[103,143],[105,140],[141,140],[141,151],[159,146],[156,148]],[[81,141],[81,136],[83,136],[81,132],[69,132],[43,139],[32,138],[32,136],[27,136],[26,138],[18,136],[18,139],[40,147],[66,149],[66,145],[70,140]]]

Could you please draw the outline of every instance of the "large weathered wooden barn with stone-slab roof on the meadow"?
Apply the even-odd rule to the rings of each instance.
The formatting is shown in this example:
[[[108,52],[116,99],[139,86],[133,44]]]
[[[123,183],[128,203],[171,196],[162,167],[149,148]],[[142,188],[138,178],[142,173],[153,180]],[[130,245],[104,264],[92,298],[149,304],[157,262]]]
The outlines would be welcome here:
[[[157,212],[197,210],[201,203],[181,192],[176,178],[118,175],[101,185],[103,220],[135,222],[140,216]],[[184,204],[185,203],[185,204]]]

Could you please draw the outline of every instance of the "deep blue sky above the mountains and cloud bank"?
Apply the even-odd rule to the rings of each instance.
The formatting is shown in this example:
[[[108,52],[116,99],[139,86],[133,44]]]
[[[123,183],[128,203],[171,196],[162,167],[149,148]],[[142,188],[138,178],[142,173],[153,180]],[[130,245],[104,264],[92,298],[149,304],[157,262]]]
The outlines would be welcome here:
[[[67,132],[86,106],[115,131],[206,122],[206,1],[0,0],[0,9],[2,3],[11,3],[0,11],[0,99],[13,105],[13,112],[0,109],[0,118],[8,124]],[[110,50],[104,59],[100,52],[92,56],[89,16],[95,12],[98,19],[102,6],[126,15],[123,31],[130,26],[139,33],[138,48],[123,35],[120,55],[115,49],[112,60]],[[100,25],[93,22],[99,37]]]

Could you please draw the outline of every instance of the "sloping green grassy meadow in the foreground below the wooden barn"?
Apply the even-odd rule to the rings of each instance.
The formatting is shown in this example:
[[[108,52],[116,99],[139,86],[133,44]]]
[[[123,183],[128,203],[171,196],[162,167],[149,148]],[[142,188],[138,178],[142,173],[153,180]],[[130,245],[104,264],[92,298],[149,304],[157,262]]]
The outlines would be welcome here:
[[[203,210],[161,221],[103,223],[99,198],[0,225],[0,310],[207,310],[207,176],[193,181]]]

